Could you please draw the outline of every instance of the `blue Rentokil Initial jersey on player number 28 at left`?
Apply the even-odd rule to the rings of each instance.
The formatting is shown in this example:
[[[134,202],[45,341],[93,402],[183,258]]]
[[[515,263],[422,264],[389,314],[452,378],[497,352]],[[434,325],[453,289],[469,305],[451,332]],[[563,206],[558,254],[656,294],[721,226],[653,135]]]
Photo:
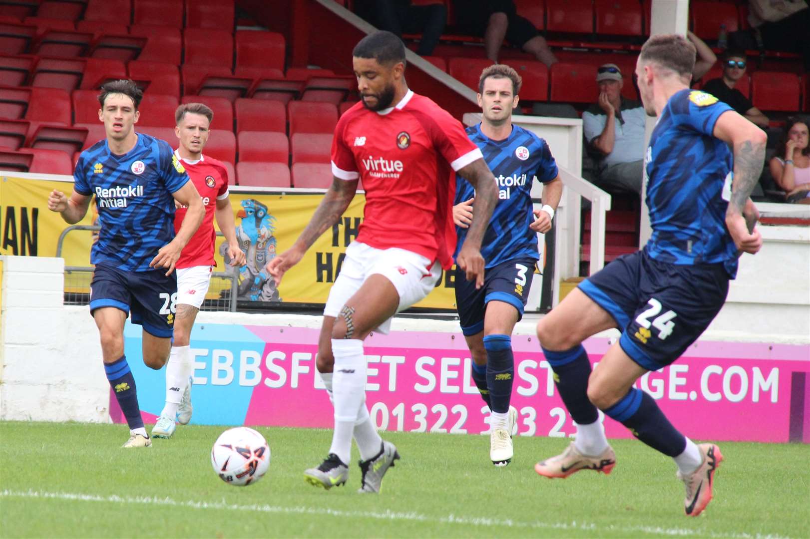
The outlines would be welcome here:
[[[158,249],[174,238],[172,193],[189,180],[168,142],[139,133],[125,155],[96,142],[79,155],[73,178],[76,193],[96,195],[101,230],[92,264],[151,269]]]

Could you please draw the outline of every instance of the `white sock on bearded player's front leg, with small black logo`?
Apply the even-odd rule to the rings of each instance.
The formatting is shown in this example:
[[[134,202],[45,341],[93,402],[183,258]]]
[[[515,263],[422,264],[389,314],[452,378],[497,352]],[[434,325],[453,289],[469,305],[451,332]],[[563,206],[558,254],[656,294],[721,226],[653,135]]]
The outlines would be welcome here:
[[[352,431],[365,401],[366,363],[360,339],[332,339],[335,370],[332,396],[335,398],[335,432],[330,453],[348,464],[352,456]]]

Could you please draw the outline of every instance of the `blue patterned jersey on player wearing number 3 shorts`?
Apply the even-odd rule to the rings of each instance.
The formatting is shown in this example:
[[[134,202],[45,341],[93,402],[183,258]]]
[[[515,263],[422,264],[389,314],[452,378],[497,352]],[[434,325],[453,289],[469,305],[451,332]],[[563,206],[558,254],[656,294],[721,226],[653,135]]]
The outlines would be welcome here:
[[[468,127],[467,136],[480,147],[498,183],[499,200],[481,242],[486,267],[514,258],[539,259],[537,233],[529,228],[535,220],[531,212],[531,180],[536,176],[540,182],[546,183],[557,176],[556,161],[548,144],[519,125],[512,125],[512,133],[505,140],[488,138],[481,133],[480,124]],[[470,182],[457,175],[454,204],[474,196],[475,189]],[[456,227],[456,231],[455,256],[458,257],[467,228]]]

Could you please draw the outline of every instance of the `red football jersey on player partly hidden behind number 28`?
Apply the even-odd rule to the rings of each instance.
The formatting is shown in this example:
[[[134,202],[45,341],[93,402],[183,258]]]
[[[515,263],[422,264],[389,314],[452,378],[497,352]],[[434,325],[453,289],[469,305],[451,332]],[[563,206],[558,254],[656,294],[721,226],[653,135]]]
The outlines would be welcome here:
[[[181,159],[177,151],[174,152],[177,159]],[[215,265],[214,261],[214,240],[216,231],[214,230],[214,210],[216,201],[228,196],[228,170],[224,164],[212,157],[201,155],[197,163],[189,163],[185,159],[181,160],[185,172],[189,173],[194,187],[197,188],[200,197],[203,198],[205,206],[205,218],[203,223],[191,236],[189,243],[183,248],[180,260],[175,266],[177,269],[190,268],[194,265]],[[177,208],[174,212],[174,233],[180,230],[180,225],[185,217],[185,206]]]

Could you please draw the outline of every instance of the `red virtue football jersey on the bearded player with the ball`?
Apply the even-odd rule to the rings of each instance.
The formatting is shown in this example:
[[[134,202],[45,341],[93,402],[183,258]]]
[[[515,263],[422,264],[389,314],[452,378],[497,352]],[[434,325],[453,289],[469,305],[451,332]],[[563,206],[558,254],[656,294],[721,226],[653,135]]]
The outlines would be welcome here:
[[[365,189],[357,241],[403,248],[453,265],[455,171],[483,155],[461,122],[433,100],[408,91],[380,112],[358,103],[340,117],[332,173]]]

